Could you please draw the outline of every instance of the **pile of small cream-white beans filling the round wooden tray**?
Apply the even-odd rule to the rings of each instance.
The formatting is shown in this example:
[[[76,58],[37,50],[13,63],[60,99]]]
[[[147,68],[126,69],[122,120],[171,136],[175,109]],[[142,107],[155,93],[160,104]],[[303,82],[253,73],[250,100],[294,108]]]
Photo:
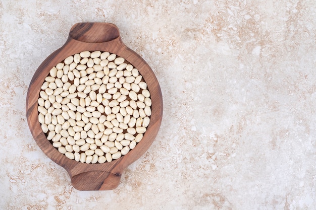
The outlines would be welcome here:
[[[55,67],[41,86],[38,120],[52,146],[81,163],[105,163],[134,149],[149,124],[147,84],[124,58],[83,51]]]

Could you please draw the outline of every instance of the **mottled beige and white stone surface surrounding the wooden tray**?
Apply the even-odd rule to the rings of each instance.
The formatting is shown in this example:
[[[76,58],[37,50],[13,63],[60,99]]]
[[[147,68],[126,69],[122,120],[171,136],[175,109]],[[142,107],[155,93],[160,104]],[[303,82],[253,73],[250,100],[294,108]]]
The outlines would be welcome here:
[[[316,3],[0,2],[0,209],[315,209]],[[149,150],[78,191],[25,116],[28,85],[77,22],[116,24],[164,97]]]

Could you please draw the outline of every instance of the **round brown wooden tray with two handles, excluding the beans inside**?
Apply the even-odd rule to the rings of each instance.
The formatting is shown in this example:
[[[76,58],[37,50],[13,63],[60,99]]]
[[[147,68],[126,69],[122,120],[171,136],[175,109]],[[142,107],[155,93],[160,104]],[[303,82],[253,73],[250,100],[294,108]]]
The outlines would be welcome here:
[[[136,147],[125,156],[108,163],[86,164],[68,159],[47,140],[38,121],[38,98],[41,85],[49,71],[70,55],[82,51],[108,51],[125,58],[135,66],[147,83],[150,92],[151,116],[147,131]],[[72,185],[78,190],[111,190],[116,188],[124,169],[140,158],[154,141],[163,115],[163,100],[159,83],[149,65],[122,41],[119,29],[110,23],[77,23],[66,43],[50,54],[37,68],[27,92],[26,115],[31,133],[40,149],[54,162],[67,170]]]

